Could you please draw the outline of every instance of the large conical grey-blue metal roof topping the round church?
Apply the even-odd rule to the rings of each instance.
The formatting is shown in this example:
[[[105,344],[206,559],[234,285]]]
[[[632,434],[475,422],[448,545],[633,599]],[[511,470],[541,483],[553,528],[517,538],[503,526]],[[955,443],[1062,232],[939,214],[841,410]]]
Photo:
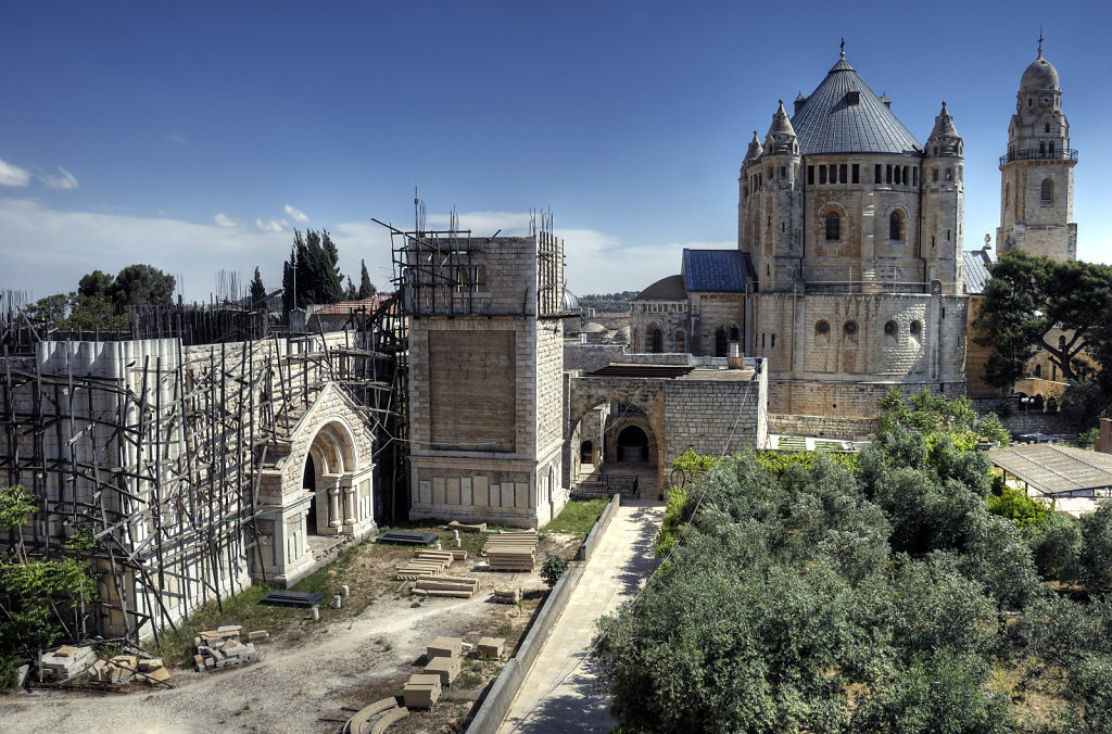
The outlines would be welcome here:
[[[915,136],[903,126],[845,59],[830,70],[822,83],[792,117],[800,151],[810,153],[923,152]]]

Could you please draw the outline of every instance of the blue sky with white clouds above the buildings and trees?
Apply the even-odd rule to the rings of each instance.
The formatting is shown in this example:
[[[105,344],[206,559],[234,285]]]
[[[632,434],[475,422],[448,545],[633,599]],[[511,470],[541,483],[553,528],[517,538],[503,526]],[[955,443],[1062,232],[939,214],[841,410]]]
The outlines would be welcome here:
[[[922,141],[965,140],[965,247],[999,224],[1020,76],[1064,90],[1079,257],[1112,261],[1108,2],[27,2],[0,18],[0,289],[150,262],[207,299],[280,285],[292,229],[389,287],[417,187],[430,225],[519,234],[552,209],[578,294],[733,247],[737,173],[776,100],[846,58]]]

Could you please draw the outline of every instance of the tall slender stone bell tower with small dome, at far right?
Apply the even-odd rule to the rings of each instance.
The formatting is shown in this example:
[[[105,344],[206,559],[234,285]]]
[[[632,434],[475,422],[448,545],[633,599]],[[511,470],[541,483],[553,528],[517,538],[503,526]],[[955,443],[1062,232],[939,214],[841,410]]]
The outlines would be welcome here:
[[[1007,153],[1000,158],[997,252],[1076,259],[1078,225],[1072,221],[1076,165],[1058,71],[1043,58],[1040,37],[1037,58],[1020,79],[1015,115],[1007,126]]]

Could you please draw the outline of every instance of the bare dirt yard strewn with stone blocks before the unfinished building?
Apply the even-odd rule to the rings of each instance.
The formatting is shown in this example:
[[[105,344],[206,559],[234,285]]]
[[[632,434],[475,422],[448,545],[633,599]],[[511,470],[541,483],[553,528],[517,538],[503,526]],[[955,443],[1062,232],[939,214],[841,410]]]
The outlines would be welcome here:
[[[314,579],[319,591],[339,593],[341,584],[351,589],[344,608],[321,605],[320,622],[311,622],[307,611],[270,607],[252,607],[246,621],[220,619],[270,629],[271,642],[257,645],[258,663],[218,673],[176,667],[172,690],[133,684],[121,694],[38,690],[0,695],[2,728],[111,734],[336,732],[358,708],[400,696],[403,683],[421,671],[425,646],[439,635],[473,644],[484,635],[506,637],[507,655],[520,642],[547,591],[538,575],[540,563],[528,574],[488,572],[477,553],[481,537],[463,536],[471,553],[449,573],[478,576],[479,593],[469,599],[418,601],[398,593],[401,582],[394,579],[393,571],[413,556],[413,548],[366,543]],[[569,557],[577,545],[574,536],[550,533],[543,536],[539,550]],[[495,604],[493,592],[503,586],[520,586],[526,598],[518,605]],[[502,665],[466,658],[440,702],[431,711],[411,712],[390,726],[390,734],[435,733],[464,721]]]

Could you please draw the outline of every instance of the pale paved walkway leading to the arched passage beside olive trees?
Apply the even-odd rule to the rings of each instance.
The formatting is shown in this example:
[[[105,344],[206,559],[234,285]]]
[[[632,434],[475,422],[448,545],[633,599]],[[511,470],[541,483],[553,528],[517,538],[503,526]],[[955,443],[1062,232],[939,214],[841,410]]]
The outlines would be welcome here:
[[[633,598],[656,569],[654,542],[664,503],[623,500],[545,643],[499,734],[608,732],[610,700],[585,659],[595,621]]]

